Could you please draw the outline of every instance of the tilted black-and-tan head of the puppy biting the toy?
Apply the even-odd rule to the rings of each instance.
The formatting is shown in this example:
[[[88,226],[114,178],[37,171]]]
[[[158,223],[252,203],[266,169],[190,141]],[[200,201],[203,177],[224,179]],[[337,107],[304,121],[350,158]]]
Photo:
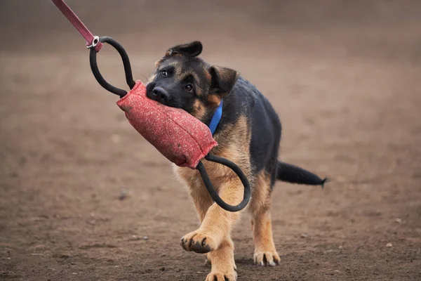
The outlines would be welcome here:
[[[193,41],[169,48],[147,84],[147,97],[182,108],[203,120],[220,105],[234,86],[238,72],[210,66],[200,55],[202,44]]]

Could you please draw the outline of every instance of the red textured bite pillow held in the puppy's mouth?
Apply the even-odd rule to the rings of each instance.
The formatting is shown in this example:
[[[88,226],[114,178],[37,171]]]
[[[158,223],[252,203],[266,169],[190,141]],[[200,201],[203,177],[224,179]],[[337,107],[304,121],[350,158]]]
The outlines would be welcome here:
[[[185,110],[147,98],[141,81],[136,81],[117,105],[136,131],[178,166],[196,169],[199,161],[218,145],[208,126]]]

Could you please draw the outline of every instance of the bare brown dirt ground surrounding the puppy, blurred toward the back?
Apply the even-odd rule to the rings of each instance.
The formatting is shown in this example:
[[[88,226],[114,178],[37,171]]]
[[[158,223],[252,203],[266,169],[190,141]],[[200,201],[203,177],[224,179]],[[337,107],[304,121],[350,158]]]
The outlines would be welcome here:
[[[199,2],[68,1],[136,79],[201,40],[279,112],[281,159],[332,178],[276,184],[276,268],[253,266],[243,213],[239,280],[421,280],[421,5]],[[83,39],[48,1],[0,1],[0,24],[0,279],[204,280],[179,245],[199,226],[187,191],[97,84]],[[118,55],[98,60],[123,86]]]

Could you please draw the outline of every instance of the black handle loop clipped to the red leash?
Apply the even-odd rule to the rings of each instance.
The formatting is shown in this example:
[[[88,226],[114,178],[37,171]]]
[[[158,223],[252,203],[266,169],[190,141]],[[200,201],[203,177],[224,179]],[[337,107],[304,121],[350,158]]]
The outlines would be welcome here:
[[[126,50],[124,50],[123,46],[121,46],[119,42],[115,41],[111,37],[100,37],[100,41],[102,43],[110,44],[119,52],[121,60],[123,60],[124,73],[126,74],[126,83],[130,87],[130,89],[133,89],[133,87],[135,86],[135,81],[133,80],[130,60],[128,59]],[[117,96],[120,96],[120,98],[126,96],[127,91],[112,86],[107,81],[105,81],[104,77],[102,77],[100,70],[98,70],[98,65],[96,62],[96,53],[97,52],[95,51],[95,48],[91,48],[91,52],[89,53],[89,63],[91,64],[91,70],[95,79],[105,90],[115,93]]]

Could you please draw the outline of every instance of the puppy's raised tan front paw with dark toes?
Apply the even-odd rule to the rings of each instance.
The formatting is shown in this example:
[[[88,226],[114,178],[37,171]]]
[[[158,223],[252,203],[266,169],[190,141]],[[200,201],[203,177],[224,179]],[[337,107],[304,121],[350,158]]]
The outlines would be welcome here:
[[[208,253],[218,247],[213,237],[202,233],[201,230],[184,235],[181,238],[180,245],[185,251],[195,251],[200,254]]]

